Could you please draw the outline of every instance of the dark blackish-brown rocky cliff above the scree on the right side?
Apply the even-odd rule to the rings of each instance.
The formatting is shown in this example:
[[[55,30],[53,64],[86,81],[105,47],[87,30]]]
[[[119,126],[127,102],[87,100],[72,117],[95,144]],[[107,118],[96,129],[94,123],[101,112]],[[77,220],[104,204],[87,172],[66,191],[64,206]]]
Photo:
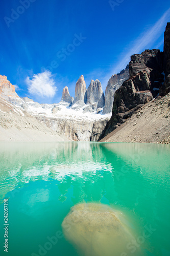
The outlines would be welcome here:
[[[170,23],[164,35],[164,52],[145,50],[131,56],[130,78],[114,95],[112,116],[99,140],[131,117],[141,106],[170,91]],[[164,81],[165,77],[165,81]]]

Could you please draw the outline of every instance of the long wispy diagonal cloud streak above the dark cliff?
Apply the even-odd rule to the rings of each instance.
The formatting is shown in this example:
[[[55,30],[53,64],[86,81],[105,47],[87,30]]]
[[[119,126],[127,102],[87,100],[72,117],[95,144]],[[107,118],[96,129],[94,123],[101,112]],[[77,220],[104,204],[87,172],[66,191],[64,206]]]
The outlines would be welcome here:
[[[121,60],[117,62],[112,71],[109,72],[108,74],[105,75],[102,79],[102,83],[104,85],[104,88],[107,85],[107,81],[109,78],[114,75],[119,73],[121,70],[125,69],[127,64],[130,61],[130,56],[136,53],[141,53],[147,47],[150,49],[151,45],[156,42],[159,37],[162,35],[163,31],[165,30],[166,23],[170,19],[170,8],[160,17],[160,19],[155,23],[154,26],[151,28],[147,29],[144,33],[140,34],[137,39],[134,41],[130,42],[128,47],[124,49],[122,53],[120,53],[120,58]],[[162,40],[156,45],[155,48],[159,48],[162,45]]]

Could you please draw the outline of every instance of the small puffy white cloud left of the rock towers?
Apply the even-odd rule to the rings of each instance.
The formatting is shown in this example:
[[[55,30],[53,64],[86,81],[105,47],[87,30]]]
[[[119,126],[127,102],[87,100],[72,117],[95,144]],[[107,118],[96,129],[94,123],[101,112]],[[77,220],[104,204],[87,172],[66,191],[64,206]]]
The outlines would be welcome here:
[[[38,95],[41,97],[52,98],[56,94],[57,87],[53,75],[50,71],[44,71],[37,75],[33,75],[33,78],[26,78],[28,91],[32,95]]]

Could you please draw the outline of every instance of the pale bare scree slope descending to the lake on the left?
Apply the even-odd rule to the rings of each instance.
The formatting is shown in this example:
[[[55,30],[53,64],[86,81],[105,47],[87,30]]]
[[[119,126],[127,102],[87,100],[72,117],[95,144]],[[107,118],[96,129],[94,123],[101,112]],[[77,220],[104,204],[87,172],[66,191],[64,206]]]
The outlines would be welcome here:
[[[0,97],[0,141],[67,141],[20,106]]]

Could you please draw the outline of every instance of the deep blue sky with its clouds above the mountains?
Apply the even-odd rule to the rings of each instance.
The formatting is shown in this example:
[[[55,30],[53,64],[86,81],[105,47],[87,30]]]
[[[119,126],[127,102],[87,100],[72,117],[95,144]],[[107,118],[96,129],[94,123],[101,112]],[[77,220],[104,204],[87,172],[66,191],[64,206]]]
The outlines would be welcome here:
[[[169,0],[1,0],[0,74],[20,97],[59,102],[83,74],[86,87],[145,49],[163,51]]]

